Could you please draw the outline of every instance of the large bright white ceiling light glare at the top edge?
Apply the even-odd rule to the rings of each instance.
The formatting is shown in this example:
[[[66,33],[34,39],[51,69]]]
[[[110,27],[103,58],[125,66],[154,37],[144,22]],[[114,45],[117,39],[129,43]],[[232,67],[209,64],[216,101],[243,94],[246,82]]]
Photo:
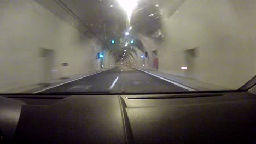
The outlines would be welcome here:
[[[120,3],[121,7],[126,11],[127,16],[128,16],[128,21],[130,23],[131,21],[131,14],[133,9],[136,7],[138,0],[118,0]]]

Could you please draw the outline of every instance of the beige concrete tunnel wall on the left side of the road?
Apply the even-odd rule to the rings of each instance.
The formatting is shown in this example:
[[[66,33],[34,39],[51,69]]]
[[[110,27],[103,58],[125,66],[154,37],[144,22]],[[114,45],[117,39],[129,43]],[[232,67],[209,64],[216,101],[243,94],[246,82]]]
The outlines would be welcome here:
[[[0,1],[0,32],[0,91],[100,69],[101,45],[32,0]]]

